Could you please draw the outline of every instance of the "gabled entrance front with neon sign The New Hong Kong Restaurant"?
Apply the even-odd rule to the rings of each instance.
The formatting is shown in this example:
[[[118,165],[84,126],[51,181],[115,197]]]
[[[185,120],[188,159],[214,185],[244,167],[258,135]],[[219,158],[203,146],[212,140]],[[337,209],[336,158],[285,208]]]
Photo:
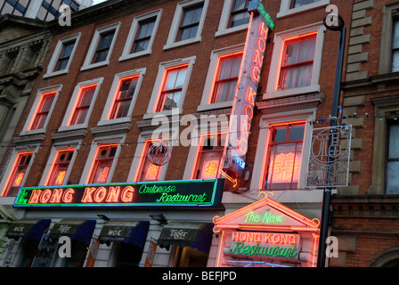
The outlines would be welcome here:
[[[319,221],[261,193],[263,199],[216,216],[217,267],[315,267]]]

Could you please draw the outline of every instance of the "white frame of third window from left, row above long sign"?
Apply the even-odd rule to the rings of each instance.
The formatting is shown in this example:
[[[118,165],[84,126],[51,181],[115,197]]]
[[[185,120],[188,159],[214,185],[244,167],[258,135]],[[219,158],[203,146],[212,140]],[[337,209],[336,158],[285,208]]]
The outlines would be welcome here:
[[[123,144],[126,139],[126,134],[122,134],[119,136],[101,136],[97,137],[93,140],[92,144],[90,145],[90,151],[89,155],[86,159],[85,163],[85,168],[83,169],[82,176],[80,176],[80,181],[79,183],[81,184],[87,184],[90,176],[92,175],[93,172],[93,167],[94,167],[94,160],[95,160],[95,154],[97,153],[97,149],[102,146],[102,144],[113,144],[113,143],[118,143],[117,147],[117,152],[115,153],[115,157],[112,160],[112,167],[110,167],[110,173],[107,177],[107,181],[105,183],[110,183],[112,180],[112,177],[115,173],[115,169],[118,164],[118,158],[120,151],[122,150]]]

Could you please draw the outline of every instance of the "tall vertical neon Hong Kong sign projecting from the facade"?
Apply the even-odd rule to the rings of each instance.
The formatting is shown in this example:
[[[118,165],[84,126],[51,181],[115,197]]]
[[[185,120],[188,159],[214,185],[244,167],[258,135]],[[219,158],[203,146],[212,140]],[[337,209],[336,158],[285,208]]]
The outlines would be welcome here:
[[[234,160],[245,161],[248,151],[248,136],[254,117],[257,86],[263,66],[269,29],[274,28],[273,20],[260,0],[248,4],[251,17],[248,25],[247,40],[241,61],[238,90],[234,96],[232,116],[230,118],[228,142],[229,149],[224,151],[224,175],[240,176],[243,169],[234,166]],[[234,159],[238,157],[239,159]]]

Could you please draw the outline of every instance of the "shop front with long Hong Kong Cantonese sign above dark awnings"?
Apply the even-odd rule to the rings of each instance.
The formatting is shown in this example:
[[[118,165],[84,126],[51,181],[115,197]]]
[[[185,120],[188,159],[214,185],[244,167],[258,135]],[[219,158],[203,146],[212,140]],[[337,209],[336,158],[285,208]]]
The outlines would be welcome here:
[[[51,219],[35,233],[30,261],[20,263],[27,247],[19,241],[9,250],[9,265],[206,266],[223,186],[224,180],[208,179],[21,188],[14,208],[27,219]],[[8,236],[20,233],[10,230]],[[60,256],[65,237],[71,242],[68,257]]]

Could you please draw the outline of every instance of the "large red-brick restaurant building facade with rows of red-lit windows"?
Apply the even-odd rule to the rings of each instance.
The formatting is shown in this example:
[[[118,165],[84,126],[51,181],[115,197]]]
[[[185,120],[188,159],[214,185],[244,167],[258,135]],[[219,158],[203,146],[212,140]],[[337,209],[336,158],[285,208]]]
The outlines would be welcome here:
[[[40,249],[43,234],[55,239],[68,228],[76,231],[67,233],[77,249],[72,259],[55,258],[52,265],[117,266],[126,263],[124,252],[134,256],[130,265],[144,265],[146,257],[155,253],[151,242],[158,240],[153,266],[240,266],[242,251],[224,250],[228,242],[233,247],[234,228],[236,232],[258,229],[256,236],[271,231],[276,239],[293,239],[294,247],[282,250],[284,256],[269,250],[269,257],[254,265],[315,266],[316,221],[321,218],[323,191],[322,187],[306,187],[307,157],[313,128],[326,126],[321,119],[330,115],[331,74],[338,48],[338,33],[327,30],[323,19],[326,7],[335,4],[350,27],[352,6],[332,0],[262,3],[274,28],[256,42],[258,50],[265,50],[265,57],[263,67],[256,60],[257,66],[251,69],[252,78],[258,75],[260,79],[253,93],[255,110],[245,168],[237,184],[231,172],[228,177],[220,171],[224,153],[220,142],[233,131],[229,121],[216,127],[201,118],[229,118],[232,114],[237,82],[244,77],[238,62],[247,54],[245,47],[251,46],[247,40],[248,1],[110,1],[75,12],[70,27],[49,22],[47,28],[54,37],[45,69],[17,126],[12,159],[0,184],[0,204],[14,220],[0,265],[37,265],[36,252],[26,249]],[[265,30],[256,30],[265,35]],[[260,67],[262,71],[256,74]],[[234,92],[229,92],[229,85]],[[194,124],[195,132],[191,143],[183,145],[182,135],[190,124],[187,120]],[[162,167],[149,162],[148,149],[157,141],[154,134],[171,149],[171,159]],[[194,139],[199,144],[192,143]],[[206,145],[207,141],[219,143]],[[224,186],[224,191],[214,187],[213,194],[221,200],[215,199],[210,208],[205,204],[180,209],[167,205],[134,208],[134,203],[129,208],[121,207],[120,201],[117,207],[68,205],[69,199],[77,196],[68,193],[77,194],[81,185],[85,185],[80,189],[82,200],[96,203],[113,201],[114,196],[105,198],[109,189],[105,187],[115,187],[114,194],[116,185],[125,187],[122,196],[129,199],[133,190],[126,183],[145,185],[146,189],[152,183],[153,190],[154,182],[175,187],[171,182],[178,181],[194,189],[193,183],[207,179]],[[202,187],[205,191],[206,186]],[[188,188],[184,191],[191,191]],[[269,191],[273,198],[266,194]],[[261,193],[265,199],[259,198]],[[54,205],[61,201],[60,195],[62,207]],[[172,198],[162,197],[158,200],[171,202]],[[248,209],[252,211],[246,213]],[[252,224],[247,219],[244,225],[229,224],[255,211],[256,215],[273,214],[273,222],[267,216],[259,225],[258,216],[253,216]],[[222,232],[214,229],[216,233],[209,233],[214,221],[220,222]],[[277,221],[281,224],[274,227]],[[28,224],[38,233],[17,231]],[[120,242],[104,233],[116,231],[118,226],[134,228],[143,235],[142,240],[137,241],[130,232],[125,242]],[[79,231],[89,234],[82,237]],[[200,240],[171,240],[172,232],[187,231]],[[101,243],[97,256],[85,249],[96,247],[93,237]],[[199,245],[207,243],[204,239],[208,242],[205,249]],[[288,249],[291,256],[287,256]],[[190,264],[189,257],[197,263]]]

